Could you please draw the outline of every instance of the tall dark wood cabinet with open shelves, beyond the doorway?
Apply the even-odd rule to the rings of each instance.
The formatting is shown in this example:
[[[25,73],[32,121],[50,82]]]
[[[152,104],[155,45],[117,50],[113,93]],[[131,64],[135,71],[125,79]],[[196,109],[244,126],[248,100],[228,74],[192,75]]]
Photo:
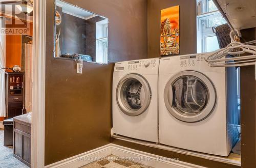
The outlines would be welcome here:
[[[22,115],[25,99],[25,73],[6,72],[6,113],[8,118]]]

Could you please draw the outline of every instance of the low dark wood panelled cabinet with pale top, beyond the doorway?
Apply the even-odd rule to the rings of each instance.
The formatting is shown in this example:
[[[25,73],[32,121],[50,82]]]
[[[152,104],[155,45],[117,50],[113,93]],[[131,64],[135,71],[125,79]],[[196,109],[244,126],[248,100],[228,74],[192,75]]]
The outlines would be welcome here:
[[[13,118],[13,156],[30,166],[31,113]]]

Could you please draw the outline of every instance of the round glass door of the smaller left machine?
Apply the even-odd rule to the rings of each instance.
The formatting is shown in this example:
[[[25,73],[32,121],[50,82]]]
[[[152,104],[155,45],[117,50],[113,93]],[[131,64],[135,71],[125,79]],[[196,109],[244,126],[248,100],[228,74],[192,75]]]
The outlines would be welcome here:
[[[129,116],[138,116],[150,105],[150,85],[141,75],[128,74],[118,83],[116,100],[123,113]]]

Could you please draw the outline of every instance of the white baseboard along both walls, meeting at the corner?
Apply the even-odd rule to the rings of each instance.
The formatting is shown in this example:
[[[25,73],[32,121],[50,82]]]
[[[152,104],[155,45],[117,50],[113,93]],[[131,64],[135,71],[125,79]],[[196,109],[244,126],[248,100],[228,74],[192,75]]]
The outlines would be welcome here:
[[[180,161],[179,158],[166,158],[139,150],[126,148],[123,146],[108,144],[94,150],[52,163],[45,168],[70,168],[80,167],[89,164],[95,160],[104,158],[109,155],[116,155],[124,159],[131,159],[152,167],[161,168],[205,168],[203,166]]]

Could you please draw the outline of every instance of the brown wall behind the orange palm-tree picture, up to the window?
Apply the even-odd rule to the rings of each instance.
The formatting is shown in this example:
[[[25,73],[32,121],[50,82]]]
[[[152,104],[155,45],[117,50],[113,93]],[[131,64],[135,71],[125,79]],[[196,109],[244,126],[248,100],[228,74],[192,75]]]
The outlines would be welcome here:
[[[148,0],[148,57],[160,57],[161,9],[180,5],[180,54],[197,52],[196,0]]]

